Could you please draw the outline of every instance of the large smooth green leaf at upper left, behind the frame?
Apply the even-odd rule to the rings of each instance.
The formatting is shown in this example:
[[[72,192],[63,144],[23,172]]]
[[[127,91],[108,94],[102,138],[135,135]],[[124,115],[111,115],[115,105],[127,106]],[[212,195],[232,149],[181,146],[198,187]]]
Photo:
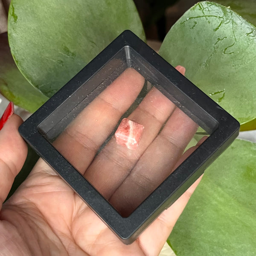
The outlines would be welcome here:
[[[132,0],[12,0],[9,9],[15,62],[48,97],[125,29],[145,40]]]

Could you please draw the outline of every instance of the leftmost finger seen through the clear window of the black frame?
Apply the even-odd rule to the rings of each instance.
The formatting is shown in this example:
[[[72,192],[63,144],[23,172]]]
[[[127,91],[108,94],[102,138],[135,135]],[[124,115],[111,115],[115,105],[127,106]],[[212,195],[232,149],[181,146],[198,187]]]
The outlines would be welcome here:
[[[144,81],[134,69],[125,70],[54,142],[61,154],[80,172],[87,169],[122,114],[137,98]]]

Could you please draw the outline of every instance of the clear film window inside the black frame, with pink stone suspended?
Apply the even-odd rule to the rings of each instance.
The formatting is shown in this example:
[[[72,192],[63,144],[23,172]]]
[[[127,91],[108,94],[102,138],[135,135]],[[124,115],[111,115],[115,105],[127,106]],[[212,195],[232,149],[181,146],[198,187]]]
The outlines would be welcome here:
[[[209,135],[138,71],[127,68],[105,79],[54,126],[47,119],[39,125],[43,136],[123,217]],[[87,84],[81,91],[83,87],[86,93]],[[52,115],[58,119],[58,112]]]

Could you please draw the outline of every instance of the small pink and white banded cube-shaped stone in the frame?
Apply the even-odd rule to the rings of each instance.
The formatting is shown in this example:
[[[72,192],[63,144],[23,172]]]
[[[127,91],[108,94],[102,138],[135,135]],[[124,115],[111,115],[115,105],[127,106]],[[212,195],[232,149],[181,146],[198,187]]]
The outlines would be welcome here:
[[[128,118],[122,119],[115,133],[116,143],[129,149],[136,149],[143,129],[144,126],[137,122],[131,121]]]

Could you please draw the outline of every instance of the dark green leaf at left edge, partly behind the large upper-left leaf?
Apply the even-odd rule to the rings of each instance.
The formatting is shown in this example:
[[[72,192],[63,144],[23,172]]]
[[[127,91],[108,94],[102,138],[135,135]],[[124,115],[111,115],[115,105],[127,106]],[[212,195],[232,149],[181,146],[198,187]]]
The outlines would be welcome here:
[[[10,51],[7,33],[0,35],[0,93],[30,112],[47,101],[37,88],[29,84],[18,70]]]

